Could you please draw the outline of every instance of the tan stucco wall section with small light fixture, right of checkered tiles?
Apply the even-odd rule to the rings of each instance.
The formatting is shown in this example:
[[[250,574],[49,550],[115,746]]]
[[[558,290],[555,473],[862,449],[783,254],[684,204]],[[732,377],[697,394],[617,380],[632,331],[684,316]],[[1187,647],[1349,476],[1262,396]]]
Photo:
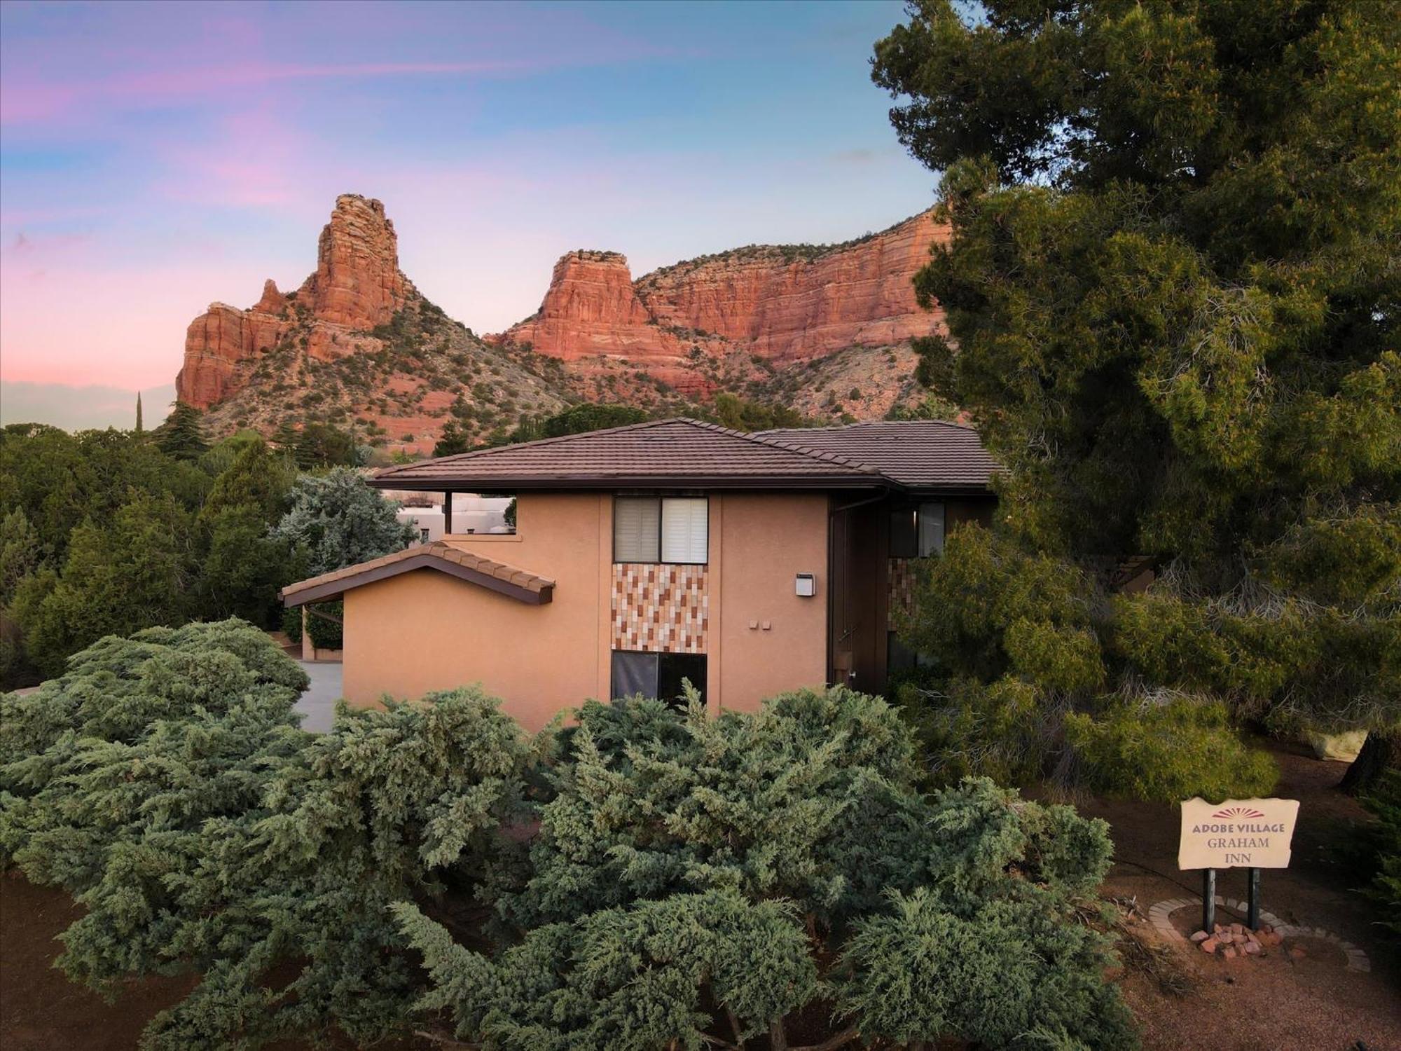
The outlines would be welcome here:
[[[794,593],[799,573],[817,577],[811,598]],[[748,712],[780,691],[822,685],[825,496],[710,497],[710,639],[712,705]]]

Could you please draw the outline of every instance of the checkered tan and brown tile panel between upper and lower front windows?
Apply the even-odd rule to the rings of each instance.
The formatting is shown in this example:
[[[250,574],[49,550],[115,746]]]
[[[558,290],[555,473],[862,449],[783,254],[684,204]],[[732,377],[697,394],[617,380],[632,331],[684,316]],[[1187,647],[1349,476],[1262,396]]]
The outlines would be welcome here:
[[[614,565],[615,650],[705,653],[709,628],[706,566]]]

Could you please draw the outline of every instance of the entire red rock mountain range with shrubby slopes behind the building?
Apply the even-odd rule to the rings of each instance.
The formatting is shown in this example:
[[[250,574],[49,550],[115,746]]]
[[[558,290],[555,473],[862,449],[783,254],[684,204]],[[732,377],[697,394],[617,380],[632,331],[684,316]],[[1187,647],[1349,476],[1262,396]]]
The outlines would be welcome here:
[[[556,265],[539,311],[479,339],[399,270],[378,200],[336,199],[317,269],[247,310],[191,322],[177,395],[212,429],[324,420],[422,453],[581,398],[685,411],[717,390],[814,416],[878,418],[918,398],[909,339],[934,331],[911,279],[947,228],[929,213],[839,245],[751,245],[633,280],[616,252]]]

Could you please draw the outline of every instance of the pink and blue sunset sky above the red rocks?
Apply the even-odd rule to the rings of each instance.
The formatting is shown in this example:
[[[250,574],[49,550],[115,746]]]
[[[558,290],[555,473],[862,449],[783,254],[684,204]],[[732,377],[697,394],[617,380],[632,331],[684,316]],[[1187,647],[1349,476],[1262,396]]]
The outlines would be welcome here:
[[[342,192],[384,200],[405,273],[479,332],[572,248],[637,276],[890,226],[936,182],[869,78],[901,11],[6,3],[0,412],[170,384],[209,301],[314,269]]]

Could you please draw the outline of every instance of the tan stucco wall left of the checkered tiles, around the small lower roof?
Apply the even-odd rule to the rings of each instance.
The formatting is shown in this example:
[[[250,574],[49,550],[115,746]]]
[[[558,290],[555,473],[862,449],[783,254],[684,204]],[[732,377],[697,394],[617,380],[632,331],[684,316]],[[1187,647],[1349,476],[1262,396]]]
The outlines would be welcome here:
[[[454,540],[553,579],[555,600],[527,605],[433,570],[347,591],[343,688],[352,703],[481,682],[535,730],[608,694],[612,497],[523,496],[517,521],[514,537]]]

